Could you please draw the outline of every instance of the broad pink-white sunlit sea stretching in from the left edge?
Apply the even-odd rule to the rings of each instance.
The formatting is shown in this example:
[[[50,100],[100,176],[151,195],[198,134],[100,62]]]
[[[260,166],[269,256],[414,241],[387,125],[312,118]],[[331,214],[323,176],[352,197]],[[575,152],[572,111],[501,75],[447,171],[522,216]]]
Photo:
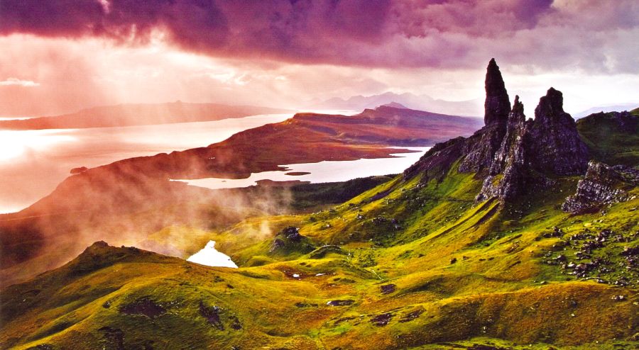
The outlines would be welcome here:
[[[293,113],[121,128],[0,130],[0,213],[21,210],[48,195],[72,168],[203,147],[291,116]]]

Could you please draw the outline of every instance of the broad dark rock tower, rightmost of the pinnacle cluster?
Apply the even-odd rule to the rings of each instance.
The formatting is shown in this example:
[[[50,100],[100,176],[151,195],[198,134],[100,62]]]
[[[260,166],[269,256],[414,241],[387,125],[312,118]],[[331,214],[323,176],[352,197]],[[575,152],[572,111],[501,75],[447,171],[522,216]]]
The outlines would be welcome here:
[[[560,91],[550,88],[535,108],[530,130],[535,169],[557,175],[584,174],[588,168],[588,148],[579,138],[577,124],[563,108]]]

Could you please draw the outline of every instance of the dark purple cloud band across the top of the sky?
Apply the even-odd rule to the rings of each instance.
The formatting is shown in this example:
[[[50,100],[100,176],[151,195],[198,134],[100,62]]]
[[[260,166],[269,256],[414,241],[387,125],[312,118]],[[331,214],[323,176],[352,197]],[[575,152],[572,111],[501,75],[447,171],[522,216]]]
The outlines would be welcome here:
[[[637,30],[637,4],[634,0],[619,0],[615,6],[592,0],[2,0],[0,34],[93,36],[136,44],[145,43],[153,30],[161,30],[182,50],[220,57],[454,68],[474,67],[478,58],[484,62],[501,55],[513,64],[561,69],[577,62],[586,70],[628,72],[639,69],[637,59],[627,62],[634,56],[611,47],[615,41],[599,45],[601,35],[596,34],[613,38],[619,30]],[[583,49],[563,47],[589,47],[595,58],[584,60]]]

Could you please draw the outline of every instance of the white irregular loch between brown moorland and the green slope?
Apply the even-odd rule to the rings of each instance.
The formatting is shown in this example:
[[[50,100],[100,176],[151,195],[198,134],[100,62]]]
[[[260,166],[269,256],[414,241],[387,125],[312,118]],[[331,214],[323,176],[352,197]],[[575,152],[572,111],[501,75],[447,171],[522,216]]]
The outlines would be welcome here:
[[[417,162],[422,155],[431,147],[400,147],[411,149],[415,152],[392,154],[392,158],[378,159],[357,159],[352,161],[324,161],[319,163],[303,163],[285,165],[286,171],[263,171],[253,173],[247,179],[196,179],[196,180],[173,180],[183,181],[192,186],[204,188],[238,188],[248,187],[257,184],[257,181],[308,181],[311,184],[323,182],[348,181],[359,177],[398,174],[408,166]],[[300,176],[287,175],[291,172],[307,172]]]

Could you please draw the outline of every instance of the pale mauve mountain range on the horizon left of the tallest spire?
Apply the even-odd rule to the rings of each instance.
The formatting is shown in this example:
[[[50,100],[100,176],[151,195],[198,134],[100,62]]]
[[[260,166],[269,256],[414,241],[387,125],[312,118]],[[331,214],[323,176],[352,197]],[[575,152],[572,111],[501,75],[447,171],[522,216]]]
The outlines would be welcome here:
[[[375,108],[388,103],[397,103],[403,108],[417,109],[420,111],[433,111],[436,113],[452,115],[481,115],[484,111],[483,101],[478,99],[467,101],[445,101],[435,99],[427,95],[415,95],[410,93],[395,94],[386,92],[371,96],[352,96],[349,98],[330,98],[326,101],[313,103],[310,108],[338,109],[360,111],[365,108]],[[396,106],[391,106],[396,107]]]

